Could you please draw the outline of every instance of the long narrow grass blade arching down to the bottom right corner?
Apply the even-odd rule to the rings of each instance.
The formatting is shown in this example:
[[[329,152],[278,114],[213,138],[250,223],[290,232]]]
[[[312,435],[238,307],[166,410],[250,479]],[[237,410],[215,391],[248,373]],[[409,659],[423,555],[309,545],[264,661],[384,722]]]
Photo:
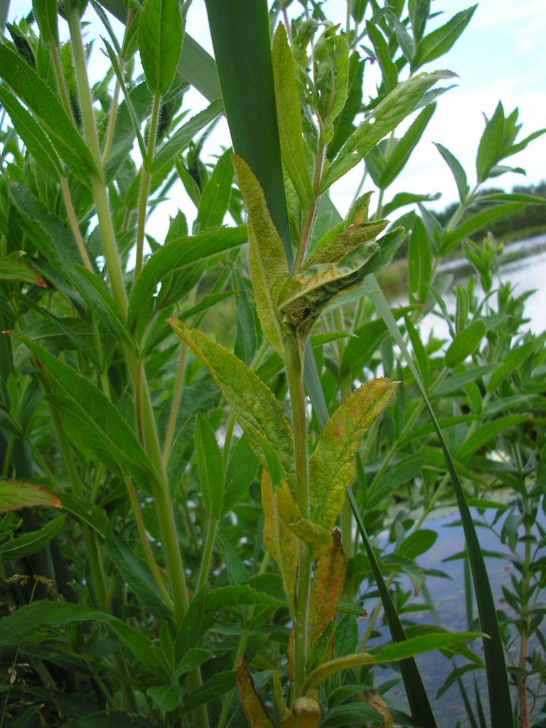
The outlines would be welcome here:
[[[486,564],[483,561],[483,554],[480,549],[480,542],[476,534],[472,515],[467,504],[464,491],[462,489],[459,475],[456,471],[453,459],[448,450],[443,432],[438,424],[432,405],[427,396],[426,389],[419,372],[411,358],[408,348],[405,346],[403,337],[398,331],[395,318],[392,315],[387,299],[384,297],[379,284],[375,277],[369,276],[365,285],[367,285],[368,293],[373,299],[376,308],[387,324],[387,328],[395,340],[396,344],[403,352],[405,360],[415,377],[417,386],[421,390],[424,403],[430,413],[432,423],[440,440],[440,446],[446,458],[448,472],[451,475],[459,513],[461,514],[462,525],[464,529],[464,537],[467,542],[467,549],[470,558],[470,566],[472,568],[472,578],[474,580],[474,588],[476,593],[476,602],[478,604],[478,614],[480,617],[480,628],[488,635],[488,639],[483,640],[483,652],[486,658],[486,673],[489,692],[489,707],[491,710],[491,725],[495,728],[513,728],[512,701],[510,699],[510,687],[508,684],[508,674],[506,670],[505,653],[502,647],[502,638],[499,630],[499,622],[496,618],[496,609],[493,594],[491,593],[491,585],[489,583]]]

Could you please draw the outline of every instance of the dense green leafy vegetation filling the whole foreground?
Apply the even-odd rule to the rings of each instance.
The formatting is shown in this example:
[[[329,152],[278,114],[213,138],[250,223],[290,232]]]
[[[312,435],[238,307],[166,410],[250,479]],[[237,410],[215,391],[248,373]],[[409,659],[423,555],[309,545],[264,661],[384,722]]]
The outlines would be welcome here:
[[[389,195],[475,7],[348,1],[333,25],[207,0],[214,61],[187,4],[92,0],[93,83],[86,6],[36,0],[0,43],[0,728],[544,725],[546,333],[480,239],[545,209],[488,187],[546,130],[499,103],[475,170],[438,144],[448,221]],[[220,114],[233,149],[210,159]],[[328,190],[362,159],[342,219]],[[154,240],[178,180],[194,222]],[[391,309],[376,273],[404,240]],[[454,250],[466,282],[438,272]],[[464,565],[456,628],[427,589],[439,547]]]

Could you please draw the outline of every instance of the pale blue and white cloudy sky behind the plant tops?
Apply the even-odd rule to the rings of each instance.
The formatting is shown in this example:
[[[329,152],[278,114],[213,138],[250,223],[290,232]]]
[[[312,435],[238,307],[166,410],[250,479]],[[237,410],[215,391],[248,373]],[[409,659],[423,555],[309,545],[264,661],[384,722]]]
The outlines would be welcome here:
[[[470,4],[467,0],[432,0],[432,8],[442,15],[430,21],[428,30],[442,25]],[[12,0],[9,19],[21,17],[30,7],[30,0]],[[298,7],[297,2],[293,3],[293,7]],[[327,0],[324,9],[328,17],[344,23],[344,1]],[[87,15],[92,17],[92,11],[88,10]],[[194,0],[191,4],[186,31],[212,54],[204,0]],[[98,32],[104,34],[102,28]],[[432,203],[432,209],[441,210],[450,202],[456,201],[457,191],[451,172],[432,142],[443,144],[455,154],[466,170],[472,186],[475,182],[475,155],[485,125],[483,114],[490,117],[499,100],[502,101],[506,114],[516,107],[519,109],[519,122],[523,124],[521,138],[546,127],[545,38],[544,0],[525,0],[519,3],[513,0],[479,2],[470,25],[454,48],[422,68],[424,71],[447,68],[454,71],[459,78],[454,79],[456,87],[438,99],[438,107],[419,146],[400,177],[389,187],[385,202],[400,191],[440,193],[441,197]],[[100,63],[96,54],[95,59],[96,63]],[[375,79],[372,74],[373,71],[366,71],[365,92],[373,92]],[[198,92],[187,94],[186,101],[194,111],[207,105]],[[403,127],[399,131],[402,132]],[[210,154],[215,154],[220,146],[229,146],[225,123],[218,125],[207,149]],[[492,181],[495,186],[510,191],[516,184],[531,185],[545,180],[546,134],[505,163],[523,167],[527,175],[502,175]],[[333,201],[342,213],[350,205],[361,176],[362,166],[359,165],[333,188]],[[371,183],[365,184],[363,189],[371,189]],[[162,228],[167,224],[165,213],[175,215],[178,207],[182,207],[189,218],[193,217],[194,213],[185,194],[177,193],[175,199],[162,207],[154,223],[154,230],[150,230],[158,240],[162,240]]]

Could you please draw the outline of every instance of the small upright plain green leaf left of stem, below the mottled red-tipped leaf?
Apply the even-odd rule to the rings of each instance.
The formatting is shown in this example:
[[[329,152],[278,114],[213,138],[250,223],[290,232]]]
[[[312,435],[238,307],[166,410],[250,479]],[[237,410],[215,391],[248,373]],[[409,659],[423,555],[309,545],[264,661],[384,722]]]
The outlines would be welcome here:
[[[215,520],[223,515],[223,457],[210,423],[197,415],[195,449],[203,505]]]

